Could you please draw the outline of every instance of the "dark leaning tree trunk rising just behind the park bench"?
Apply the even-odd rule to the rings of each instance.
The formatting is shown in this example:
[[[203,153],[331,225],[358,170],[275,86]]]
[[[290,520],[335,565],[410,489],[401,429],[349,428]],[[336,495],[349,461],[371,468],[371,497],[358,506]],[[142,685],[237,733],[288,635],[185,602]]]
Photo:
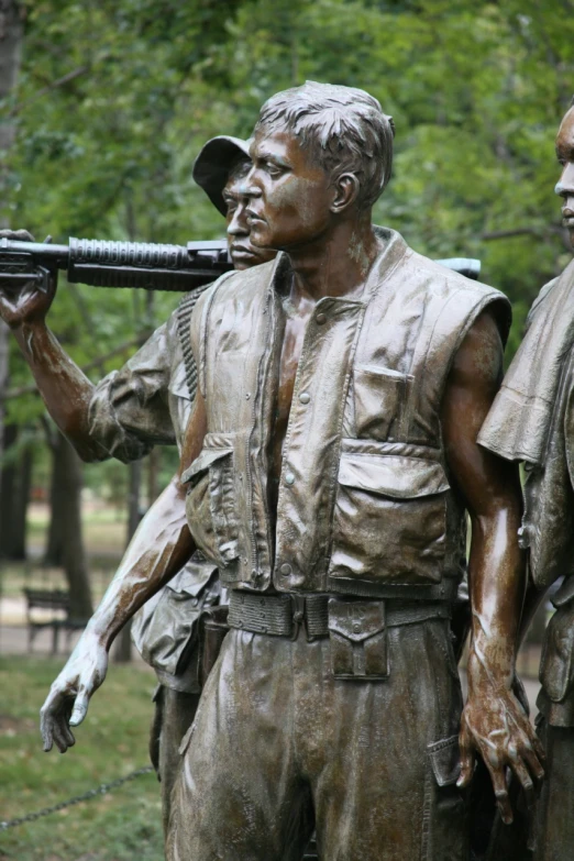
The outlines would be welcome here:
[[[52,511],[52,520],[60,520],[57,529],[62,540],[62,566],[68,582],[70,616],[74,619],[87,620],[93,608],[81,529],[81,461],[59,431],[52,451],[52,489],[53,499],[57,500],[55,510]]]

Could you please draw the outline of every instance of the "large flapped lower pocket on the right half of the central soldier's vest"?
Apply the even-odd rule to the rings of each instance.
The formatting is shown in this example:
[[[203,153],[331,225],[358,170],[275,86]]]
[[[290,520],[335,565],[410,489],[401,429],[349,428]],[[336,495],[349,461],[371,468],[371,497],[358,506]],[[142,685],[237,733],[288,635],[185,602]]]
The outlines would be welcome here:
[[[440,583],[449,482],[426,446],[344,440],[329,576]]]

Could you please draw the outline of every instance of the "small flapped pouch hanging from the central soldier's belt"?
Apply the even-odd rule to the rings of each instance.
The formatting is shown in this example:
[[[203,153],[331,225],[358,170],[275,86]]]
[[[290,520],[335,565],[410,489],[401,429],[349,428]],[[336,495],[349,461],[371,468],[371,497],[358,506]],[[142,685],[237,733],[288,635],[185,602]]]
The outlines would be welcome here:
[[[330,598],[329,639],[335,678],[376,681],[388,677],[385,601]]]

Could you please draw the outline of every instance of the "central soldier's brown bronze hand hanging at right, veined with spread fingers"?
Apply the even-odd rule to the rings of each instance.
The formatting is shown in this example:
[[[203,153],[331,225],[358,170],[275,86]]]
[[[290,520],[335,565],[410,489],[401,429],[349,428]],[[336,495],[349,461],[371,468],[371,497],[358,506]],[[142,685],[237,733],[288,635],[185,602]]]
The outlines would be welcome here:
[[[495,684],[473,653],[468,659],[468,700],[463,711],[460,743],[459,786],[470,784],[475,751],[478,751],[490,773],[503,821],[510,824],[507,769],[519,780],[530,806],[534,801],[534,781],[544,776],[544,749],[512,691]]]

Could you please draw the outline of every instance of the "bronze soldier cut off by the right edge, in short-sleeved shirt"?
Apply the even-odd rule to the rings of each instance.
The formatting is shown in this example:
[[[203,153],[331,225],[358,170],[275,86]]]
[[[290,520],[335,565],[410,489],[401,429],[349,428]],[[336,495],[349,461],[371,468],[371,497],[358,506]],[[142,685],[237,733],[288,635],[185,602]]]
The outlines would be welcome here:
[[[563,224],[574,245],[574,108],[556,137]],[[542,288],[481,431],[482,445],[523,461],[520,530],[532,578],[527,620],[547,589],[556,608],[542,650],[538,729],[548,759],[538,803],[536,861],[574,858],[574,262]]]

